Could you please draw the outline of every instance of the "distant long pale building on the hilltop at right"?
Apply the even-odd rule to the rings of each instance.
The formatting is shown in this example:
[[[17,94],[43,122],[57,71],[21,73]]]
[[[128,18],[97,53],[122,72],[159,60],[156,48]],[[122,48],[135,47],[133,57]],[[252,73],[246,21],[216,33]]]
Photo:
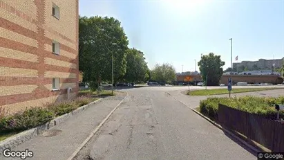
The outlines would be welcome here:
[[[277,60],[265,60],[260,59],[258,61],[243,61],[238,63],[233,63],[233,68],[239,67],[247,67],[249,70],[256,70],[256,69],[273,69],[274,67],[280,68],[283,64],[284,57],[282,59]]]

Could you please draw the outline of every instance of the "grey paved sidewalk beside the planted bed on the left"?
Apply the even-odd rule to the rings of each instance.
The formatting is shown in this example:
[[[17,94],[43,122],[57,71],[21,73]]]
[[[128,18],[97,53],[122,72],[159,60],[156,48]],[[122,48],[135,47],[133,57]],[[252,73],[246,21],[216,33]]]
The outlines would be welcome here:
[[[34,156],[27,159],[66,160],[122,99],[121,96],[104,98],[100,103],[88,107],[85,111],[71,116],[64,123],[48,130],[48,132],[54,131],[53,133],[57,135],[36,136],[17,146],[17,148],[12,148],[12,151],[24,151],[26,149],[32,151]],[[12,158],[0,156],[0,159]]]

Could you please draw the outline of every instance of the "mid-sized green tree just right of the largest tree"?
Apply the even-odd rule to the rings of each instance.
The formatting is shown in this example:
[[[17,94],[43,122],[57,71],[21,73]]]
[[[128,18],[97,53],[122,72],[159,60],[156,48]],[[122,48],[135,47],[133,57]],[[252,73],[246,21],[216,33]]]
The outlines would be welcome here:
[[[126,62],[124,79],[132,83],[144,81],[147,76],[146,72],[149,70],[144,54],[135,48],[130,48],[126,52]]]

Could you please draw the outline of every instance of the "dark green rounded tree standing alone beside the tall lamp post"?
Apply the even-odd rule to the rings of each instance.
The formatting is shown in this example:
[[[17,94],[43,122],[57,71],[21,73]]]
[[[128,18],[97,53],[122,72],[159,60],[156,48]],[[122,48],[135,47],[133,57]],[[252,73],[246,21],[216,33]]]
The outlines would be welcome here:
[[[223,75],[224,65],[225,62],[220,59],[220,55],[214,55],[214,53],[202,55],[198,66],[203,82],[207,82],[208,86],[218,86]]]

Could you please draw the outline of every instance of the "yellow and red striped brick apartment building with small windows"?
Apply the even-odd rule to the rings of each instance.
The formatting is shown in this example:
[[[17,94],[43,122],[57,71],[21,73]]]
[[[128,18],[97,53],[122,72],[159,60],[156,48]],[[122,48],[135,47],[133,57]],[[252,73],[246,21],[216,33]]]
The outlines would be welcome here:
[[[0,107],[77,96],[78,0],[0,0]]]

